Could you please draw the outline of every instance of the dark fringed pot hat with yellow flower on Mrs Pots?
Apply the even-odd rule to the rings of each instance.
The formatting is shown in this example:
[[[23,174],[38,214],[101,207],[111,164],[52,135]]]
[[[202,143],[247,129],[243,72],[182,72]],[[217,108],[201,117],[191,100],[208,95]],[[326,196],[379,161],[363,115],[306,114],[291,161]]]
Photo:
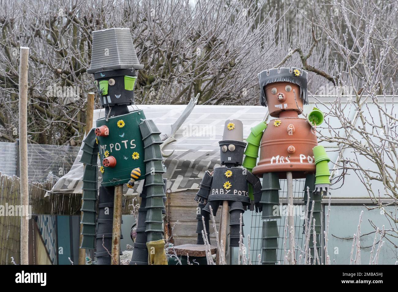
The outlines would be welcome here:
[[[307,72],[298,68],[274,68],[258,73],[260,83],[260,103],[267,106],[264,87],[269,83],[290,82],[300,86],[300,98],[304,104],[308,104],[307,97]]]

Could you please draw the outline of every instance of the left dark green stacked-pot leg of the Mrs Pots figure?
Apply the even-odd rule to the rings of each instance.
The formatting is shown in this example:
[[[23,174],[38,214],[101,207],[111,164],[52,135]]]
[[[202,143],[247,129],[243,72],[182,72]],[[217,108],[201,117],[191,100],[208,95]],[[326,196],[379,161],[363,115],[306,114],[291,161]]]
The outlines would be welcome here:
[[[263,220],[263,235],[261,238],[261,263],[272,265],[277,263],[277,248],[279,231],[276,219],[281,218],[279,213],[279,174],[269,172],[263,174],[263,184],[260,203],[262,204],[261,218]]]

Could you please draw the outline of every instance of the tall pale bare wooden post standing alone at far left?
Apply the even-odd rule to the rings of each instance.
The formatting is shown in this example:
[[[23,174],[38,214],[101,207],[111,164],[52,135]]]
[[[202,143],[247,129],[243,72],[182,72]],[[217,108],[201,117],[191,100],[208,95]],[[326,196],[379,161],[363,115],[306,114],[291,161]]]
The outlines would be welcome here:
[[[20,79],[19,79],[19,138],[20,138],[20,172],[21,172],[21,206],[29,212],[29,186],[27,174],[27,72],[29,48],[21,46],[20,48]],[[21,265],[29,264],[29,220],[21,216]]]

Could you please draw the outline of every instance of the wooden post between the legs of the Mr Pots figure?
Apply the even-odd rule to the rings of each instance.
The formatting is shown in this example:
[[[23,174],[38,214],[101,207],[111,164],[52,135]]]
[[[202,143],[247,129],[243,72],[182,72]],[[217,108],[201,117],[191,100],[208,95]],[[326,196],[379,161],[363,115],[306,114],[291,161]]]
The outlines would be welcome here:
[[[120,264],[120,232],[122,224],[123,185],[115,186],[113,201],[112,258],[111,265]]]

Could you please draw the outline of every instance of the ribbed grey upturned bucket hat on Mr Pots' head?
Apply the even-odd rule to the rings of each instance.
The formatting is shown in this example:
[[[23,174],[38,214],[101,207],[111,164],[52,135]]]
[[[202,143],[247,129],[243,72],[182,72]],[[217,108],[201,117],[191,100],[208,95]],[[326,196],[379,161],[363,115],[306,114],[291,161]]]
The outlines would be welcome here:
[[[93,32],[91,66],[88,73],[118,69],[142,69],[130,29],[111,28]]]

